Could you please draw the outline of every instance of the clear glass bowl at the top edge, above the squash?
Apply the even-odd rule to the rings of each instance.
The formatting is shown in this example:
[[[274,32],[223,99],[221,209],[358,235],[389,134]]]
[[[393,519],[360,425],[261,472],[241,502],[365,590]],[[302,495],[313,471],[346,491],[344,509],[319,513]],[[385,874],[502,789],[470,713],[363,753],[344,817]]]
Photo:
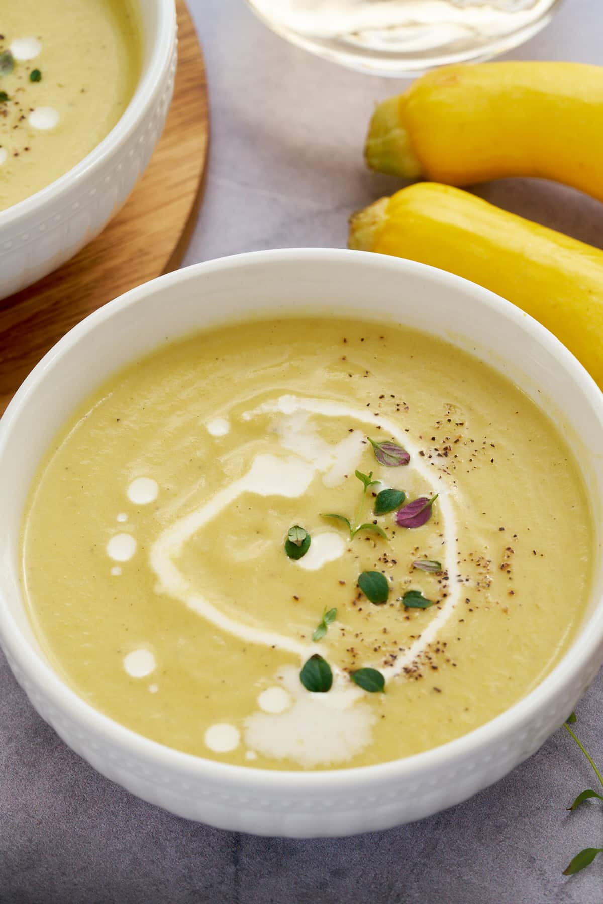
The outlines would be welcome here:
[[[561,0],[247,0],[269,27],[307,51],[400,78],[486,60],[527,41]]]

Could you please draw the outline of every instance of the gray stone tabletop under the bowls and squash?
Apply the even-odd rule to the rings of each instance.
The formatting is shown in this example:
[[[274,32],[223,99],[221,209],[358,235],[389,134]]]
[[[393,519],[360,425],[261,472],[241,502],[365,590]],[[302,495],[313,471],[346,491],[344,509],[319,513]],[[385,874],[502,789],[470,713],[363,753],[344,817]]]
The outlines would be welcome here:
[[[294,245],[343,246],[348,214],[395,180],[363,169],[375,100],[401,87],[281,42],[242,0],[191,0],[212,104],[207,191],[186,262]],[[571,0],[517,59],[603,63],[603,6]],[[603,208],[509,181],[479,190],[515,212],[603,244]],[[568,600],[571,605],[571,600]],[[593,786],[564,731],[493,788],[385,833],[309,842],[187,823],[99,777],[37,716],[0,660],[0,904],[598,904],[603,811],[565,807]],[[579,734],[603,761],[603,675]]]

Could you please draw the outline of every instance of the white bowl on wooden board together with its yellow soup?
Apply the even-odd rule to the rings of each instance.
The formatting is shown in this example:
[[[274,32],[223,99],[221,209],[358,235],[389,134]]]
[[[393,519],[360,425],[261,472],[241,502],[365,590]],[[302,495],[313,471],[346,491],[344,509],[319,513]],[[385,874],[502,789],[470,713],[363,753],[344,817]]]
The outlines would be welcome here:
[[[174,89],[174,0],[23,0],[0,14],[0,298],[118,212]]]

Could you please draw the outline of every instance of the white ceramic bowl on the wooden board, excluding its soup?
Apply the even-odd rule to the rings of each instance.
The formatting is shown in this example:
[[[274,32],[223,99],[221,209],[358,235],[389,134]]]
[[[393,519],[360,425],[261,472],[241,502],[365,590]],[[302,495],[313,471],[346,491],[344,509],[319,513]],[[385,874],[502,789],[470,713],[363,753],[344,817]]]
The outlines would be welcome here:
[[[0,212],[0,299],[31,286],[94,239],[144,173],[174,91],[174,0],[137,0],[142,72],[126,112],[68,173]]]

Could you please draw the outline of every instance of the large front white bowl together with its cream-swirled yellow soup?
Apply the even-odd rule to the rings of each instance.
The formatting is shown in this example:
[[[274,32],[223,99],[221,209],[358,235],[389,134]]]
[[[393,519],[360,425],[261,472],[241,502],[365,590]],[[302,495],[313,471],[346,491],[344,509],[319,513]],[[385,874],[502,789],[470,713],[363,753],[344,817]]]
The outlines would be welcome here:
[[[71,747],[180,815],[429,815],[601,663],[602,438],[579,363],[465,280],[337,250],[188,268],[6,411],[3,647]]]

